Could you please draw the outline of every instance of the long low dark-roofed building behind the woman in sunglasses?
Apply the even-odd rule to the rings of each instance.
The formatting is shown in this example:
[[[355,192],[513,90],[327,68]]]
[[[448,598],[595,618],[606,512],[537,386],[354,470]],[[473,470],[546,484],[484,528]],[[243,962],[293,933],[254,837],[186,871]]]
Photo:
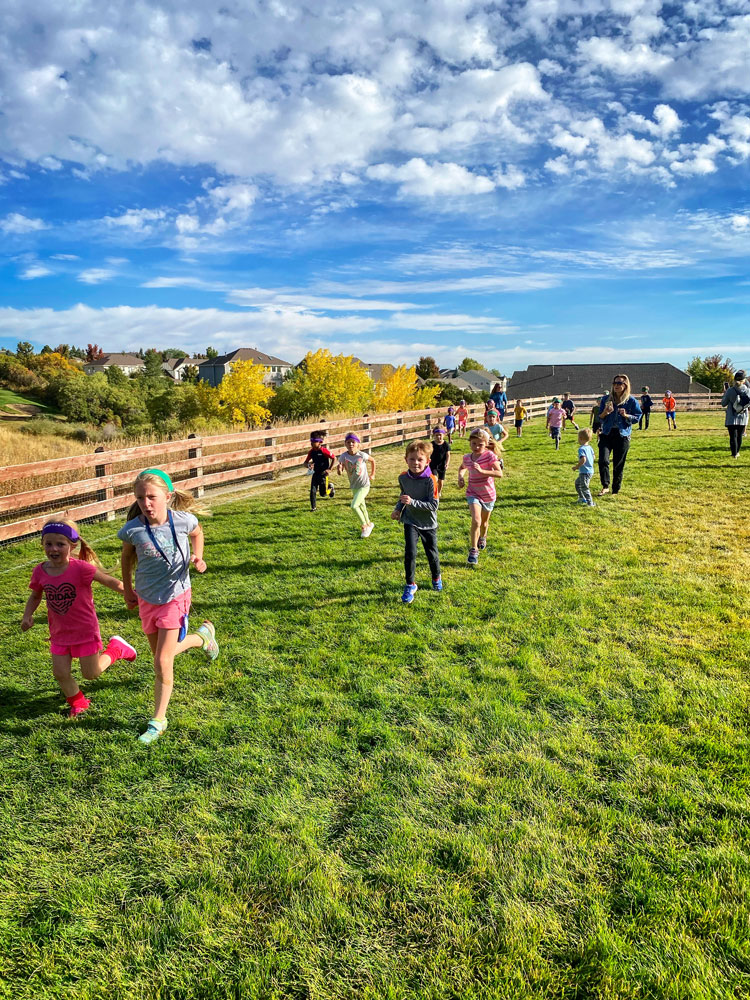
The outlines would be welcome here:
[[[560,396],[569,392],[576,396],[592,396],[612,388],[612,379],[623,372],[630,379],[633,395],[647,385],[653,395],[665,389],[674,393],[705,393],[708,389],[694,382],[687,372],[665,362],[629,364],[615,362],[606,365],[529,365],[526,371],[513,372],[508,382],[508,396],[513,399],[534,396]]]

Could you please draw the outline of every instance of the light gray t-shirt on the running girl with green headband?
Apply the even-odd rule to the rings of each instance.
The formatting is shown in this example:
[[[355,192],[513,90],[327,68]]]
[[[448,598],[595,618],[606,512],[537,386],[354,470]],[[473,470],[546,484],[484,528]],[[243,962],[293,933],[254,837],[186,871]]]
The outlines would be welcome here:
[[[169,604],[179,594],[190,590],[190,539],[188,535],[198,527],[195,514],[184,510],[172,511],[174,530],[180,551],[175,548],[169,522],[152,524],[151,533],[164,553],[149,538],[145,520],[134,517],[120,528],[117,537],[135,547],[138,565],[135,570],[135,592],[149,604]],[[182,555],[180,555],[180,552]],[[164,558],[166,557],[166,558]]]

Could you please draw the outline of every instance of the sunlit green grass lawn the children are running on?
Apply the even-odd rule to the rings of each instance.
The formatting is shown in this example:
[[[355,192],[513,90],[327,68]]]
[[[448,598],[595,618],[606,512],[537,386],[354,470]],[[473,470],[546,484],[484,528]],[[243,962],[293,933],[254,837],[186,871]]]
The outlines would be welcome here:
[[[678,420],[593,510],[572,434],[510,440],[474,571],[451,475],[445,590],[420,557],[409,607],[399,452],[366,540],[343,481],[315,515],[306,479],[222,498],[193,582],[222,657],[178,663],[148,750],[137,619],[100,588],[141,657],[68,722],[18,631],[38,545],[0,552],[0,996],[750,996],[750,447]]]

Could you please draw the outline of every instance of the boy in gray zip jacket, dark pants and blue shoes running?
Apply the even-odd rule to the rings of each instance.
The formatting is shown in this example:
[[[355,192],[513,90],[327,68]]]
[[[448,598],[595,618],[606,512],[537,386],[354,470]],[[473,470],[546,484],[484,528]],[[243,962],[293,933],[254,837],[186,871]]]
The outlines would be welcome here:
[[[439,500],[430,474],[430,442],[412,441],[406,449],[407,470],[398,477],[401,495],[391,514],[404,526],[404,572],[406,585],[401,595],[411,604],[417,592],[417,541],[421,540],[432,573],[432,589],[442,590],[440,555],[437,547],[437,511]]]

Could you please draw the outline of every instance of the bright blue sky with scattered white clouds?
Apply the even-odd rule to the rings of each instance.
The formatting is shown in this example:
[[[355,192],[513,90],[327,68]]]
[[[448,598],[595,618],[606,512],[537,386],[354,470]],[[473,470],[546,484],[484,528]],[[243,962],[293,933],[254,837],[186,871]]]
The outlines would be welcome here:
[[[0,346],[750,367],[745,0],[65,7],[0,14]]]

